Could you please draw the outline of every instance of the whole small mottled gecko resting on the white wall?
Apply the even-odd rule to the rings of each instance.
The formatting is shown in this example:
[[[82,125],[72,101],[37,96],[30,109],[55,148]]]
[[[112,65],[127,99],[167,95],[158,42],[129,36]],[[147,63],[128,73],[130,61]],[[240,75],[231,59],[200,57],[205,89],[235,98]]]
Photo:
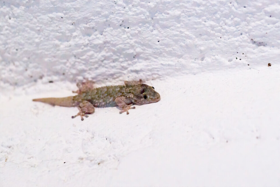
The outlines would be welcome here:
[[[86,80],[76,84],[78,87],[76,96],[63,98],[38,98],[33,101],[48,103],[50,105],[64,107],[78,107],[78,114],[72,116],[75,118],[81,116],[88,117],[88,114],[94,113],[94,107],[115,107],[119,106],[120,114],[129,109],[135,109],[132,105],[144,105],[155,103],[160,100],[160,94],[155,91],[154,87],[143,84],[143,81],[125,81],[125,85],[104,86],[95,88],[94,82]]]

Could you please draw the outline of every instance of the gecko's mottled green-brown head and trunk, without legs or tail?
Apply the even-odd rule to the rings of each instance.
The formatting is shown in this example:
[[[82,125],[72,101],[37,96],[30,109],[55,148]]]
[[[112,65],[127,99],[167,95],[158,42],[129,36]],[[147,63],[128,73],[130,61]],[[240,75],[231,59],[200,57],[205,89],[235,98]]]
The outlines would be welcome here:
[[[144,99],[143,95],[147,95],[148,98]],[[117,97],[124,96],[128,98],[131,104],[143,105],[147,103],[153,103],[160,100],[160,95],[146,84],[134,84],[134,85],[118,85],[118,86],[106,86],[83,91],[73,97],[74,103],[80,103],[83,100],[87,100],[95,107],[114,107],[118,106],[115,102]]]

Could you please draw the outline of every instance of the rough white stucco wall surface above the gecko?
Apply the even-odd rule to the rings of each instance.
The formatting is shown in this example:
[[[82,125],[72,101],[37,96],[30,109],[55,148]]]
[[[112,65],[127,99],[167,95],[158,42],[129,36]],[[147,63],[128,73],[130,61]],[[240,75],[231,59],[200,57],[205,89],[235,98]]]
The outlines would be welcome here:
[[[276,1],[0,3],[0,87],[151,80],[279,59]]]

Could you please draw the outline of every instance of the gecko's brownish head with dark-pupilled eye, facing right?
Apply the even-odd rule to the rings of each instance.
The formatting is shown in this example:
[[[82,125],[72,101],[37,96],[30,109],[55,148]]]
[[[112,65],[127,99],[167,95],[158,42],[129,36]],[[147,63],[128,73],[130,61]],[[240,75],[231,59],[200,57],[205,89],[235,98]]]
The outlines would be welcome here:
[[[154,87],[147,84],[141,84],[139,93],[137,93],[134,103],[136,105],[144,105],[148,103],[155,103],[160,100],[160,94],[155,91]]]

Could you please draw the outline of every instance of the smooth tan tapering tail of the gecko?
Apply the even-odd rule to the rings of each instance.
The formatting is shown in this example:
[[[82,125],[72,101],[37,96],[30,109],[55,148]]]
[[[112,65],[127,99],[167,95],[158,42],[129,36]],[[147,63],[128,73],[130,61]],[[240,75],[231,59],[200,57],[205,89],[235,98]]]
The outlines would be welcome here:
[[[33,101],[39,101],[43,103],[48,103],[50,105],[58,105],[63,107],[73,107],[75,106],[73,101],[73,96],[70,97],[62,97],[62,98],[40,98],[40,99],[33,99]]]

